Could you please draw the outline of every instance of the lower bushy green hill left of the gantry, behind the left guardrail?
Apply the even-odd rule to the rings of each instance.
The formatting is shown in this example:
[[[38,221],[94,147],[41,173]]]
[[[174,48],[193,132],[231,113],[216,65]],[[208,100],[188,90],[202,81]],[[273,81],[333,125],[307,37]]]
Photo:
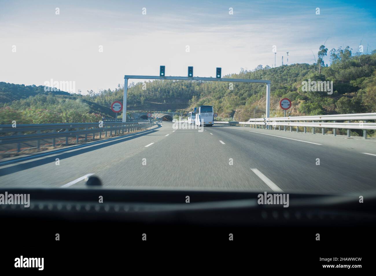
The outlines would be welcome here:
[[[0,99],[0,124],[98,122],[114,116],[109,106],[65,91],[44,91],[44,86],[0,82]]]

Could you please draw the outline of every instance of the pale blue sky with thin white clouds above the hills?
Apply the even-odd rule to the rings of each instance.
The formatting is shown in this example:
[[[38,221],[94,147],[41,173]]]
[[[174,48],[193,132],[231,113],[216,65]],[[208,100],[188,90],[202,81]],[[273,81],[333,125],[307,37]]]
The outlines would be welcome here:
[[[329,50],[348,45],[355,53],[361,40],[364,51],[376,49],[372,1],[0,0],[0,7],[0,81],[25,85],[53,79],[75,81],[76,90],[113,89],[124,75],[159,75],[159,65],[167,76],[185,76],[187,66],[195,76],[214,76],[215,67],[226,75],[274,65],[273,45],[277,66],[287,51],[289,64],[313,63],[325,41]]]

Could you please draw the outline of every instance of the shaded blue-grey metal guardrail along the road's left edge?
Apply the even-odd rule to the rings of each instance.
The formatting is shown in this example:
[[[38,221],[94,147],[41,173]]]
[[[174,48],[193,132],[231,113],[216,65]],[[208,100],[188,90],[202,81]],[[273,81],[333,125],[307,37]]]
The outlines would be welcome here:
[[[95,134],[99,133],[99,139],[102,139],[102,133],[114,131],[124,134],[125,132],[144,130],[153,126],[149,120],[138,120],[132,122],[103,122],[98,123],[67,123],[67,124],[19,124],[16,127],[12,125],[0,125],[0,146],[17,143],[17,151],[21,150],[21,143],[37,141],[36,148],[39,148],[41,140],[52,140],[55,146],[56,139],[65,138],[65,144],[68,145],[69,138],[75,137],[76,143],[79,142],[81,135],[85,135],[85,141],[88,134],[92,134],[92,140],[95,140]],[[31,147],[33,148],[33,147]]]

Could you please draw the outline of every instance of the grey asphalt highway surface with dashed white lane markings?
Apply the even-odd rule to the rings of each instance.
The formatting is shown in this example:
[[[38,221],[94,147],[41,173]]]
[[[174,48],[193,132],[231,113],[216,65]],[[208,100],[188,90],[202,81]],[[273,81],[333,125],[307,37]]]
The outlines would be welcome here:
[[[200,132],[161,124],[69,151],[2,161],[0,186],[80,187],[83,176],[96,174],[105,187],[324,194],[376,189],[374,139],[222,126]]]

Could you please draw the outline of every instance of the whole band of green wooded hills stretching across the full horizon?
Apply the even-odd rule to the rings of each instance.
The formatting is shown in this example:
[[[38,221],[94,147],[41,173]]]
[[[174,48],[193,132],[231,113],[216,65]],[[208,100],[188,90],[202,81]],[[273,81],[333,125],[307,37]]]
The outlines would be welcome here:
[[[271,117],[283,116],[278,105],[282,98],[291,99],[292,107],[288,111],[291,116],[376,112],[376,50],[363,55],[352,54],[349,47],[327,51],[325,46],[320,46],[314,64],[276,68],[259,65],[254,70],[242,69],[240,73],[223,77],[271,80]],[[329,65],[323,62],[327,54]],[[309,79],[332,81],[333,93],[303,91],[302,82]],[[127,105],[128,110],[148,111],[190,111],[200,105],[213,105],[219,114],[218,119],[247,120],[265,116],[265,91],[265,84],[155,80],[131,83]],[[35,110],[41,114],[52,110],[65,114],[64,118],[54,118],[54,122],[97,120],[101,116],[112,116],[109,106],[113,101],[123,101],[123,87],[120,85],[115,90],[91,90],[88,95],[69,95],[67,92],[45,92],[43,86],[0,82],[0,106],[7,108],[0,108],[0,117],[5,119],[9,114],[15,116],[14,110],[17,109],[27,118]],[[43,120],[34,118],[31,121]]]

